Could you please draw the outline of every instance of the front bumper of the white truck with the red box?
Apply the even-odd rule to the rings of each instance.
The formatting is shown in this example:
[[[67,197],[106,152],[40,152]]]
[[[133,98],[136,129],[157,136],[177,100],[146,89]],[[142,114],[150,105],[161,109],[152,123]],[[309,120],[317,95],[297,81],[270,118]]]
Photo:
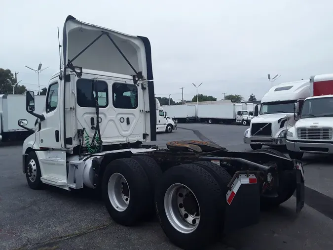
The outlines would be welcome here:
[[[333,154],[333,144],[331,143],[311,143],[302,141],[287,141],[287,149],[293,152]]]

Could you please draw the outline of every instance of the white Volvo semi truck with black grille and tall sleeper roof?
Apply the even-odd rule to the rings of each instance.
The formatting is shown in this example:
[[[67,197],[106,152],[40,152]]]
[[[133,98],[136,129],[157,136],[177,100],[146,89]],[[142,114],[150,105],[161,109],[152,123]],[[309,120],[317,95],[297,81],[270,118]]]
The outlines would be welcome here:
[[[262,97],[260,109],[255,107],[255,118],[244,132],[244,143],[251,148],[263,145],[286,146],[288,129],[295,125],[295,103],[310,96],[309,80],[281,83],[273,86]]]

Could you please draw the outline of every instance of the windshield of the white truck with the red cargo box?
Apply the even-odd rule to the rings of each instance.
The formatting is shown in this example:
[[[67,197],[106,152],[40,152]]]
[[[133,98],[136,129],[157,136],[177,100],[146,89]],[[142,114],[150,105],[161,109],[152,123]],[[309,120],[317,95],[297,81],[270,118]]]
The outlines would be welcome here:
[[[300,118],[333,117],[333,97],[305,100]]]

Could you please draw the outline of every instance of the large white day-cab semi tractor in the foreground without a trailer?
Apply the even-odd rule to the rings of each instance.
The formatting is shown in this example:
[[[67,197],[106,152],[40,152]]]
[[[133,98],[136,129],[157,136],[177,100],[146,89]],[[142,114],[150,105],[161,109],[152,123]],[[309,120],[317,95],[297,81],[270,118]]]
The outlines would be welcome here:
[[[296,212],[303,208],[302,163],[274,150],[231,152],[205,141],[142,145],[156,140],[148,38],[68,16],[61,49],[42,113],[34,92],[26,94],[26,110],[38,119],[22,151],[32,189],[95,189],[124,226],[157,213],[183,249],[204,249],[222,232],[257,223],[260,206],[278,206],[295,190]]]

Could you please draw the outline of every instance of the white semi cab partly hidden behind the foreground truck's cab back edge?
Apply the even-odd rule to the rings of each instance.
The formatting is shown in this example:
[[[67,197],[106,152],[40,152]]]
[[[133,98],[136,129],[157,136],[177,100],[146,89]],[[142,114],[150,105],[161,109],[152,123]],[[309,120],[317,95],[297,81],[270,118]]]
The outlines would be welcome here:
[[[177,129],[177,122],[168,117],[167,111],[164,111],[161,107],[157,98],[156,101],[156,132],[167,132],[171,133],[173,130]]]

